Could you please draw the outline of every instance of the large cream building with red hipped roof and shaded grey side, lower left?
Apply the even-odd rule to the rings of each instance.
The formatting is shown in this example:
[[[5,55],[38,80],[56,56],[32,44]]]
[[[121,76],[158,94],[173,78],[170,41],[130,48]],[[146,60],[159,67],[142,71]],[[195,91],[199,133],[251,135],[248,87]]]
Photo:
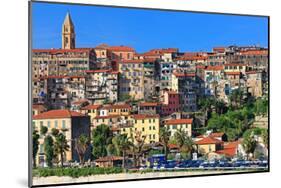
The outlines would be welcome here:
[[[64,161],[79,161],[78,154],[74,149],[74,140],[81,134],[90,137],[90,118],[79,112],[70,110],[50,110],[41,114],[33,116],[33,127],[40,133],[42,126],[48,128],[47,135],[51,134],[53,128],[64,132],[69,151],[65,153]],[[39,151],[36,157],[37,164],[43,165],[45,163],[44,155],[44,136],[39,138]],[[90,153],[86,154],[86,159],[90,157]]]

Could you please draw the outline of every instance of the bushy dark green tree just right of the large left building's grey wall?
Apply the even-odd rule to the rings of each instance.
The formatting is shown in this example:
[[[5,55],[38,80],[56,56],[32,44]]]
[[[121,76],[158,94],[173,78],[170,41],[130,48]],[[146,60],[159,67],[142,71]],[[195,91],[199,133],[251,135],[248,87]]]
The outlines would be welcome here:
[[[92,132],[93,157],[99,158],[107,155],[107,146],[110,144],[112,134],[105,124],[97,126]]]

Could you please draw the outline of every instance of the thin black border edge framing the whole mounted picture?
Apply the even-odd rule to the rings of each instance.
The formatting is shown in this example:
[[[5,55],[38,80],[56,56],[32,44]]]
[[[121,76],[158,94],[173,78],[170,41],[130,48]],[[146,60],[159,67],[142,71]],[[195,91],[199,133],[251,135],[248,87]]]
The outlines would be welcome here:
[[[46,4],[69,4],[80,6],[96,6],[96,7],[110,7],[110,8],[127,8],[127,9],[141,9],[141,10],[158,10],[165,12],[190,12],[201,14],[219,14],[219,15],[232,15],[232,16],[250,16],[250,17],[264,17],[268,22],[268,168],[263,171],[248,171],[248,172],[231,172],[220,174],[201,174],[190,176],[171,176],[171,177],[153,177],[153,178],[140,178],[140,179],[128,179],[128,180],[104,180],[96,182],[79,182],[79,183],[58,183],[58,184],[44,184],[44,185],[32,185],[32,3],[46,3]],[[222,12],[209,12],[209,11],[192,11],[192,10],[174,10],[163,8],[148,8],[148,7],[133,7],[133,6],[119,6],[119,5],[100,5],[89,3],[73,3],[73,2],[53,2],[53,1],[41,1],[41,0],[29,0],[28,1],[28,187],[51,187],[51,186],[67,186],[67,185],[85,185],[85,184],[99,184],[99,183],[114,183],[114,182],[131,182],[131,181],[145,181],[145,180],[160,180],[160,179],[178,179],[178,178],[191,178],[191,177],[206,177],[206,176],[225,176],[225,175],[240,175],[240,174],[257,174],[270,172],[270,16],[268,15],[255,15],[255,14],[238,14],[238,13],[222,13]]]

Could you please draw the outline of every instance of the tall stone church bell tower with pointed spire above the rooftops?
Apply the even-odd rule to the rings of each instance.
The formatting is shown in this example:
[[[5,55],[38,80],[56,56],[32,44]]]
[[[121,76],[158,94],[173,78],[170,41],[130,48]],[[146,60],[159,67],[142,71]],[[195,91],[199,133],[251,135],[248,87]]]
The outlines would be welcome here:
[[[75,48],[75,31],[69,12],[66,14],[62,25],[62,49]]]

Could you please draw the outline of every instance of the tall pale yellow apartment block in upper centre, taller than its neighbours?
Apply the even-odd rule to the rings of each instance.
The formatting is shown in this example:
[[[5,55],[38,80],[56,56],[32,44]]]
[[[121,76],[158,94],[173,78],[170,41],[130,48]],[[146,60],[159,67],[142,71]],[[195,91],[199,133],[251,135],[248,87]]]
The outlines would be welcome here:
[[[144,98],[144,60],[123,60],[119,64],[119,94],[139,100]]]

